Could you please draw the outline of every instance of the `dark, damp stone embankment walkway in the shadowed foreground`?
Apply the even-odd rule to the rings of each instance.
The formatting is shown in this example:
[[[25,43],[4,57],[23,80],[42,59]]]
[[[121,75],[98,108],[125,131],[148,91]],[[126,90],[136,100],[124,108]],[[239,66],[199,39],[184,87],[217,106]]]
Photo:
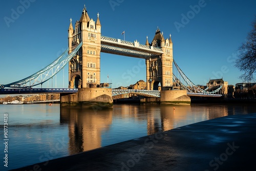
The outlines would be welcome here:
[[[16,170],[256,170],[255,123],[226,116]]]

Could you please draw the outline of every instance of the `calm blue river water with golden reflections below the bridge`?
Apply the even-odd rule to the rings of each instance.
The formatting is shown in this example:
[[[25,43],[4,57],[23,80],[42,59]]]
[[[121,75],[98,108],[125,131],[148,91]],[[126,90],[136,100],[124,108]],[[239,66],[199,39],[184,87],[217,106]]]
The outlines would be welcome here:
[[[175,108],[175,109],[174,109]],[[227,115],[255,113],[254,104],[137,105],[114,104],[113,109],[60,108],[59,104],[0,105],[8,114],[8,168],[4,149],[0,170],[9,170],[74,155],[101,146],[167,131]]]

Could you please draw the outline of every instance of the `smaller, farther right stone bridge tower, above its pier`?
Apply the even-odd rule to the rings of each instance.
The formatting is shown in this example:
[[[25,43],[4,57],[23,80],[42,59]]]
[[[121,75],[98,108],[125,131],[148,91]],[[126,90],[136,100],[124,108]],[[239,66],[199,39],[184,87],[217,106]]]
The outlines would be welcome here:
[[[169,39],[164,39],[163,32],[158,28],[156,34],[149,44],[146,39],[147,46],[162,48],[161,56],[153,56],[146,58],[146,80],[147,90],[158,90],[159,83],[161,90],[171,90],[173,86],[173,42],[169,35]]]

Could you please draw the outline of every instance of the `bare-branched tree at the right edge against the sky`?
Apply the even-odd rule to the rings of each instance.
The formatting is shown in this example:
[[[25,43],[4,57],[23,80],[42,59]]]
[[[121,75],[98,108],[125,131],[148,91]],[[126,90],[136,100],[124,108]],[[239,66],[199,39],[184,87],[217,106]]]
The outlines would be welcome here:
[[[234,65],[244,72],[239,78],[247,82],[255,80],[253,75],[256,73],[256,16],[252,27],[246,42],[238,49],[239,55]]]

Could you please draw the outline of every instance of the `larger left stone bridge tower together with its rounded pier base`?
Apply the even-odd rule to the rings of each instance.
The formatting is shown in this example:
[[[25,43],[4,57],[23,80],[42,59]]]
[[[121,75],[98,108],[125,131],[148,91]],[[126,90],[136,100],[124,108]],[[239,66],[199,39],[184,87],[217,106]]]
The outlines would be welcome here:
[[[78,88],[78,92],[60,94],[61,106],[71,104],[101,109],[113,105],[112,90],[100,88],[101,25],[99,14],[97,15],[95,22],[90,19],[84,6],[80,20],[76,21],[74,28],[70,19],[69,53],[82,42],[81,48],[69,62],[69,88]]]

